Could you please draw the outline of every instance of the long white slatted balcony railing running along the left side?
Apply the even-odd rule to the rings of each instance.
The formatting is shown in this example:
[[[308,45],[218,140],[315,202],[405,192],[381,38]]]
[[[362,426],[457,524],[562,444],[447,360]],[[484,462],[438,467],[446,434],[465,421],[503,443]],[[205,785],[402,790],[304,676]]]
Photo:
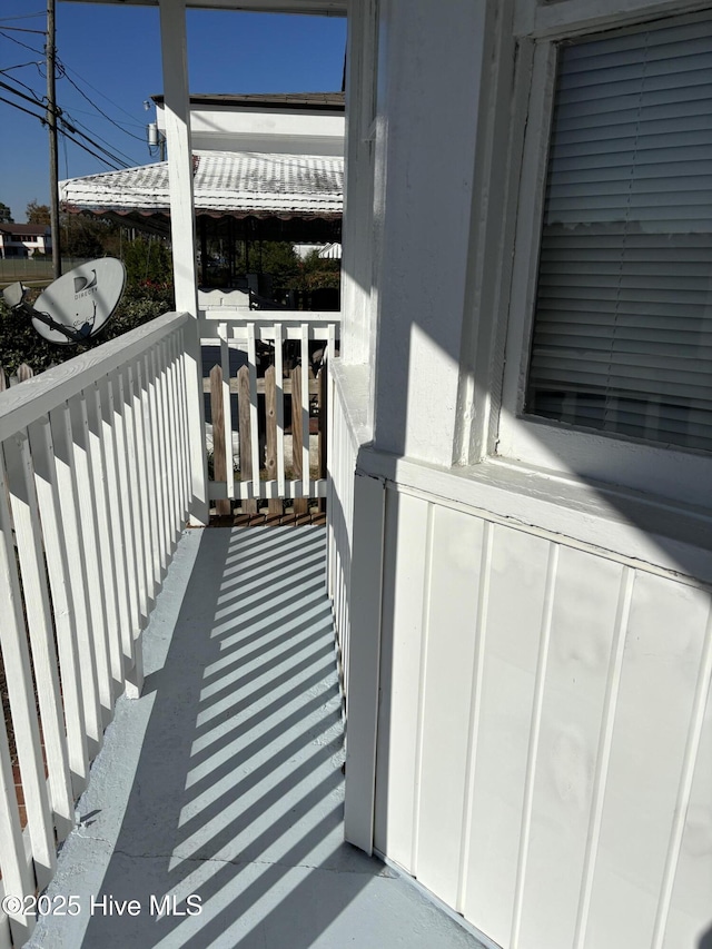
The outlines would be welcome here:
[[[51,879],[115,701],[141,688],[178,535],[205,516],[198,354],[195,320],[167,314],[0,394],[6,894]],[[0,947],[29,936],[13,907]]]

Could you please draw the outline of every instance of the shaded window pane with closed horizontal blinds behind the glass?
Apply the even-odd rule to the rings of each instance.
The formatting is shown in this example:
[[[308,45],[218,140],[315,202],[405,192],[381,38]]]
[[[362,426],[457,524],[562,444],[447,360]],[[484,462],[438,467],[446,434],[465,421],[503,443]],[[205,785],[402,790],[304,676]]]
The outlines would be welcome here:
[[[712,21],[562,47],[525,413],[712,448]]]

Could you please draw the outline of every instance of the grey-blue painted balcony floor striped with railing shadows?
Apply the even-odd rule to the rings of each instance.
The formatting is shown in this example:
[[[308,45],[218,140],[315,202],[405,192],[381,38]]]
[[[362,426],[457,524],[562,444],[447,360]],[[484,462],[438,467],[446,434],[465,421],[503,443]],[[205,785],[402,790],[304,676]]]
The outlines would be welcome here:
[[[145,634],[142,698],[118,702],[48,890],[79,912],[40,918],[28,946],[479,947],[343,841],[325,540],[185,533]]]

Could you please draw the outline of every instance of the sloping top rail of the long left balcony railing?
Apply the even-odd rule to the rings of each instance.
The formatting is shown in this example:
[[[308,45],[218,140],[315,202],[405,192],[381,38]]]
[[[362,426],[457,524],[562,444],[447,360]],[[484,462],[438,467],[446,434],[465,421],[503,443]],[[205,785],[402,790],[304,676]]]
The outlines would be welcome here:
[[[192,317],[166,313],[150,323],[0,393],[0,442],[131,362]]]

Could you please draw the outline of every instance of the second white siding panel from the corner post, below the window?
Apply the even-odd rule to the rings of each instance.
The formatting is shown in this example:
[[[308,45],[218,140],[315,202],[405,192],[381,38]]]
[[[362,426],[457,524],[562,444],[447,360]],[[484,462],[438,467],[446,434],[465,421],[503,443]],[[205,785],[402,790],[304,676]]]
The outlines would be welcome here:
[[[477,517],[434,508],[415,873],[451,906],[459,884],[483,531]]]

